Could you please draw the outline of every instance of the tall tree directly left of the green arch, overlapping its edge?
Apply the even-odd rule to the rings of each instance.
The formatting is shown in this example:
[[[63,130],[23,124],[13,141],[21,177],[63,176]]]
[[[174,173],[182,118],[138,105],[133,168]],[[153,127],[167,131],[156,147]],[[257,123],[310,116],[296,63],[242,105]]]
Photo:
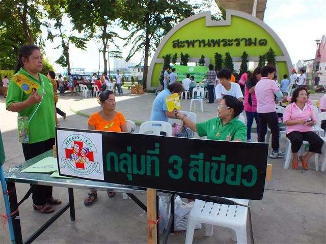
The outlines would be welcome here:
[[[144,60],[144,87],[148,73],[148,57],[156,50],[163,37],[174,25],[194,14],[197,5],[184,0],[125,0],[121,11],[121,24],[129,31],[126,45],[132,44],[128,61],[136,52],[142,51]],[[142,62],[140,60],[140,63]]]

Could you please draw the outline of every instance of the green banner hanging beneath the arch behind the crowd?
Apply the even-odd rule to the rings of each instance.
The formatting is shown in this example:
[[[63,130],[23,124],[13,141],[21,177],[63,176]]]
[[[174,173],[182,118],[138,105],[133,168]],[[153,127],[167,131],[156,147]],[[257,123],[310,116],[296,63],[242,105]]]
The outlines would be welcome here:
[[[206,79],[205,74],[209,70],[205,66],[183,66],[183,65],[174,65],[172,68],[176,69],[178,81],[182,81],[186,78],[186,75],[195,76],[196,82],[201,82],[203,79]],[[170,70],[171,71],[171,70]]]

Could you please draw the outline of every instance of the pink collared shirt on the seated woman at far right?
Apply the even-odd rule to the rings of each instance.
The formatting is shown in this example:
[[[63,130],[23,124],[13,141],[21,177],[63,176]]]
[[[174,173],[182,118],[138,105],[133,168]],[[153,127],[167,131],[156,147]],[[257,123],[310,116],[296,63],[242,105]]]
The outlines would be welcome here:
[[[317,121],[314,109],[312,108],[311,105],[307,103],[305,104],[303,110],[298,108],[296,106],[296,103],[291,103],[286,106],[283,113],[283,123],[287,120],[292,120],[292,119],[309,120],[310,118],[312,118],[312,120],[314,121]],[[312,127],[306,125],[286,126],[286,134],[289,134],[292,131],[308,132],[308,131],[312,131]]]

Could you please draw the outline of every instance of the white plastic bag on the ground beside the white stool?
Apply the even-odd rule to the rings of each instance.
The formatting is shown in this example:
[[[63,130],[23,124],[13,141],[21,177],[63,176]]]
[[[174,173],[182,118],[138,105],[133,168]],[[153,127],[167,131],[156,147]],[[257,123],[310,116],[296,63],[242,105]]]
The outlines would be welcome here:
[[[174,230],[186,230],[188,215],[195,202],[186,203],[181,200],[180,196],[177,196],[174,202]],[[202,225],[200,223],[195,226],[195,229],[201,228]]]

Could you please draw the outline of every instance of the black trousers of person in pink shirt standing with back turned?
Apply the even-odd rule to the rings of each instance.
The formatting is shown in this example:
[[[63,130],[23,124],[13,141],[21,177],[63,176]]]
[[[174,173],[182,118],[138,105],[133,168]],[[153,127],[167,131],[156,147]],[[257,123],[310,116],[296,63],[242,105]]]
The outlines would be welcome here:
[[[271,148],[274,151],[278,150],[280,147],[280,128],[279,119],[276,112],[271,113],[258,113],[259,117],[259,133],[258,142],[265,142],[265,135],[267,132],[267,125],[271,132]]]

